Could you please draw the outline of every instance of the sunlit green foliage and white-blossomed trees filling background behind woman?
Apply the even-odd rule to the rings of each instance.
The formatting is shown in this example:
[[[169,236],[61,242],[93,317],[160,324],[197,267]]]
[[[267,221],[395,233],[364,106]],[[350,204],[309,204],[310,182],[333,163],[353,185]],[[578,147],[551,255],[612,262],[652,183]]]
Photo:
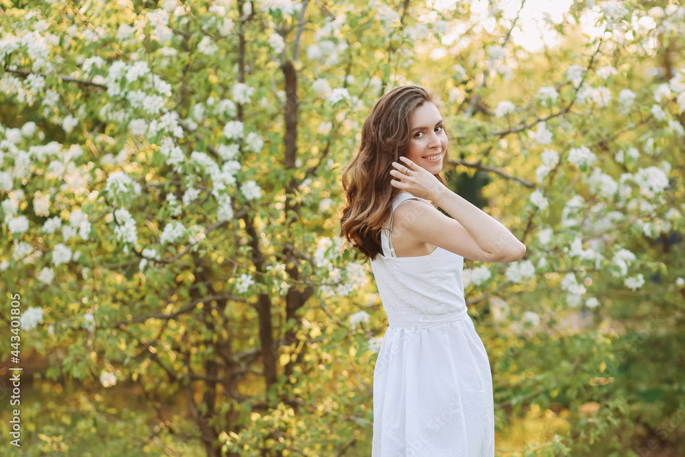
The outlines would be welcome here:
[[[466,262],[497,454],[684,452],[677,2],[0,5],[3,454],[369,455],[387,322],[340,171],[407,82],[447,101],[451,188],[527,246]]]

